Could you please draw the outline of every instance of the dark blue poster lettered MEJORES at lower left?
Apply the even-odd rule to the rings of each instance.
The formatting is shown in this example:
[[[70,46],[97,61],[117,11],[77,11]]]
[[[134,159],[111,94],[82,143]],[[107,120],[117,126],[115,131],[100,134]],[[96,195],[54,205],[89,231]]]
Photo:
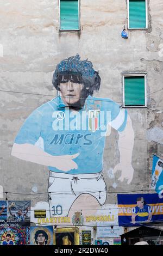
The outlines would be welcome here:
[[[30,201],[8,201],[8,223],[30,226]]]

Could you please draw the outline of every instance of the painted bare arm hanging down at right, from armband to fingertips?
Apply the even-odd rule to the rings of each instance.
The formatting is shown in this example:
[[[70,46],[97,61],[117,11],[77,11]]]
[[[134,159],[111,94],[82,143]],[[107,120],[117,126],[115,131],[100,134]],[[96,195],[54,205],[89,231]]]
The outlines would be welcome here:
[[[131,119],[128,115],[126,128],[119,133],[118,148],[120,150],[120,163],[118,163],[113,173],[116,173],[117,170],[121,170],[121,176],[118,180],[123,182],[124,179],[127,179],[127,184],[130,184],[133,179],[134,169],[132,167],[132,153],[134,147],[134,131],[132,127]]]

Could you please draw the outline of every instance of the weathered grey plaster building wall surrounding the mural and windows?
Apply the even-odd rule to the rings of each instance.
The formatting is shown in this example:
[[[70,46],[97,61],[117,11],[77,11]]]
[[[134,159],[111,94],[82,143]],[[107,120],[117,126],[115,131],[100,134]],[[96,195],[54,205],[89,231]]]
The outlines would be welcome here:
[[[124,0],[80,1],[80,31],[59,31],[59,1],[0,1],[1,90],[1,180],[4,192],[47,192],[47,167],[11,156],[11,149],[24,120],[56,95],[52,75],[56,65],[80,54],[99,71],[101,88],[97,97],[123,101],[122,72],[147,72],[147,108],[129,108],[134,130],[132,181],[112,174],[120,160],[118,133],[106,137],[103,176],[108,187],[106,204],[116,204],[116,191],[149,189],[152,155],[162,151],[162,47],[161,0],[148,1],[148,29],[128,31]],[[2,51],[1,51],[2,53]],[[160,90],[160,91],[159,91]],[[157,92],[158,91],[158,92]],[[22,92],[22,93],[21,93]],[[39,95],[41,94],[41,95]],[[48,95],[48,96],[47,96]],[[8,194],[9,199],[27,196]],[[29,196],[32,205],[48,202],[47,194]],[[80,199],[79,199],[80,200]],[[89,207],[90,197],[86,198]]]

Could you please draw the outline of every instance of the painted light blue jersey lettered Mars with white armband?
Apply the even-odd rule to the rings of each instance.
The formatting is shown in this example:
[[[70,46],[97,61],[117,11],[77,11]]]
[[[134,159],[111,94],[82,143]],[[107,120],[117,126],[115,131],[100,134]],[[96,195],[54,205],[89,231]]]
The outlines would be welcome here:
[[[61,98],[48,101],[29,115],[15,143],[33,144],[53,156],[74,155],[78,169],[68,172],[49,166],[52,172],[69,174],[98,173],[103,169],[105,135],[110,124],[121,132],[126,127],[127,111],[110,99],[89,96],[82,109],[58,108]]]

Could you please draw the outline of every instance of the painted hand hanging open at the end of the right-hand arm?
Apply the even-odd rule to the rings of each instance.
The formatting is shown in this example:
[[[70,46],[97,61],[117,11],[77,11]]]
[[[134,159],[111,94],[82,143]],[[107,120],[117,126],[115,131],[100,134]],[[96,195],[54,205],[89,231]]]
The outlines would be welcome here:
[[[131,166],[131,164],[124,165],[121,163],[118,163],[114,170],[113,173],[115,174],[117,170],[121,170],[121,176],[118,178],[121,182],[124,181],[124,179],[127,179],[127,184],[130,184],[130,182],[133,180],[133,174],[134,174],[134,168]]]

